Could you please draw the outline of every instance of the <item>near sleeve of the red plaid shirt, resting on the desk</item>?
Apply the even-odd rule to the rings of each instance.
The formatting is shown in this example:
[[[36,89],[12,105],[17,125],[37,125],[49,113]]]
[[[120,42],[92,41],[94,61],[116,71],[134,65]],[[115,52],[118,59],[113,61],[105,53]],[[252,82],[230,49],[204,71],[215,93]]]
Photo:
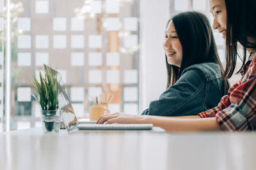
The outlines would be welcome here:
[[[228,131],[255,130],[256,78],[245,81],[230,94],[230,106],[216,114],[221,129]]]

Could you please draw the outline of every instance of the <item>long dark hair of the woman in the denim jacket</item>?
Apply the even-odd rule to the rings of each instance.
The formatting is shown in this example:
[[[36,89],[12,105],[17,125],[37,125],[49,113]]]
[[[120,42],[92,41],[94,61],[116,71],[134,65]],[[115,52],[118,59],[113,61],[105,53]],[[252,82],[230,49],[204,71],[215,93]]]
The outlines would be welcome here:
[[[216,43],[211,29],[211,24],[204,14],[196,11],[187,11],[179,13],[170,19],[176,29],[182,45],[182,61],[180,68],[168,64],[166,58],[166,67],[168,74],[167,87],[173,85],[180,78],[180,74],[186,67],[203,62],[214,62],[220,66],[221,73],[224,73],[220,62]],[[227,79],[225,80],[225,92],[229,88]]]

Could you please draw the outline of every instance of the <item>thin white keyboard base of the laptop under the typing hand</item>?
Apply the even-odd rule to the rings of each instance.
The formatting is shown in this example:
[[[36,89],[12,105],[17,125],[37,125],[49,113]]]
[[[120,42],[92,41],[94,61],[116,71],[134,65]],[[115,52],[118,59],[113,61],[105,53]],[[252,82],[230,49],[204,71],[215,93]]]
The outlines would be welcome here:
[[[80,130],[151,130],[153,124],[78,124]]]

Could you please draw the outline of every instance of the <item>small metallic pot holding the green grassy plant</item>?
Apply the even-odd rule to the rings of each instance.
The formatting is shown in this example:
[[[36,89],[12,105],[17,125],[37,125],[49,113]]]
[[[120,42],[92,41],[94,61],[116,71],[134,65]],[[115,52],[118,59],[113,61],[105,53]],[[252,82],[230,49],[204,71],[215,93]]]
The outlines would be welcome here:
[[[41,119],[44,132],[60,131],[60,110],[42,110]]]

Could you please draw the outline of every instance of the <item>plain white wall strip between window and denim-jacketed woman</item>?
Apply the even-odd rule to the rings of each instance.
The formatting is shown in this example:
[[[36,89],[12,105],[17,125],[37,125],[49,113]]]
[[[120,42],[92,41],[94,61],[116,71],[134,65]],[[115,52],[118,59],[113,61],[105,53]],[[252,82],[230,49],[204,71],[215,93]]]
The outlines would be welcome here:
[[[170,19],[169,0],[141,0],[140,4],[140,113],[166,88],[164,30]]]

